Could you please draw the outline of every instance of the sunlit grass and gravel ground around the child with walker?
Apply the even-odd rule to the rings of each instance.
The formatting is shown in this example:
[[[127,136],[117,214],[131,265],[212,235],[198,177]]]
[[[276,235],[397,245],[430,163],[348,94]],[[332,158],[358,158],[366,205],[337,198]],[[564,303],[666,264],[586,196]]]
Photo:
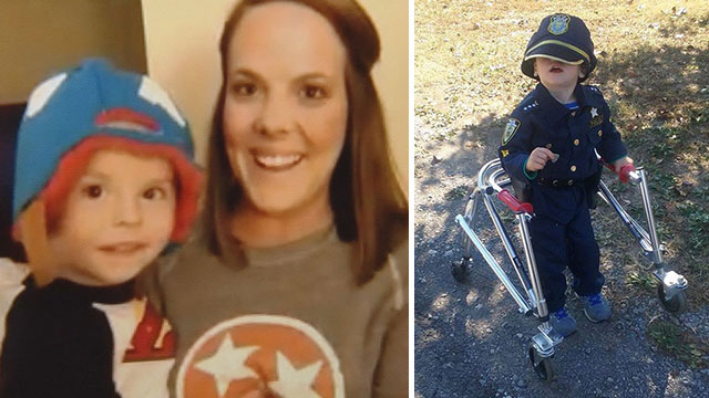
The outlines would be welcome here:
[[[537,322],[517,313],[480,255],[466,283],[450,264],[462,253],[454,218],[474,175],[496,156],[506,115],[534,85],[520,72],[526,41],[557,11],[592,31],[599,61],[588,83],[650,175],[666,262],[690,289],[686,314],[664,311],[651,264],[599,206],[594,228],[614,315],[592,324],[568,296],[579,332],[558,347],[557,380],[546,384],[526,357]],[[414,12],[415,396],[709,396],[709,3],[417,0]],[[641,216],[635,189],[604,180]],[[484,211],[479,219],[476,231],[505,261]]]

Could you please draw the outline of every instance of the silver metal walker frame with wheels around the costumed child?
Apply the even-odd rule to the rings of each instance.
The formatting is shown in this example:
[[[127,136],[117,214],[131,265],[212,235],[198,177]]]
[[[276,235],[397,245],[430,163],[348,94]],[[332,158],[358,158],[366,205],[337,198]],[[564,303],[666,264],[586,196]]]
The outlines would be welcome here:
[[[613,166],[607,164],[605,166],[613,170]],[[655,264],[655,271],[653,274],[658,280],[657,294],[662,306],[671,313],[681,313],[687,307],[685,290],[687,289],[688,283],[682,275],[675,271],[665,270],[665,263],[662,262],[662,245],[657,239],[655,228],[655,218],[653,216],[647,185],[647,172],[643,168],[630,171],[629,180],[633,185],[639,187],[643,206],[645,208],[647,229],[649,232],[625,211],[603,180],[599,182],[598,196],[600,196],[600,198],[616,211],[623,223],[630,231],[630,234],[640,245],[645,256]],[[469,197],[464,214],[458,214],[455,217],[455,222],[463,231],[464,253],[460,261],[453,263],[452,273],[458,281],[464,281],[472,260],[473,248],[480,252],[483,260],[487,263],[495,276],[497,276],[505,290],[517,304],[520,313],[527,316],[534,315],[540,320],[541,324],[537,327],[538,333],[532,337],[528,347],[530,362],[540,378],[551,381],[555,378],[551,358],[554,355],[555,347],[562,343],[564,337],[551,326],[546,301],[542,293],[542,283],[540,281],[528,231],[528,222],[534,217],[533,207],[531,203],[521,202],[506,189],[506,187],[512,185],[512,181],[502,168],[500,159],[491,160],[480,169],[477,172],[476,186]],[[521,234],[524,262],[517,255],[517,251],[505,230],[502,219],[493,202],[493,197],[500,199],[514,212]],[[502,240],[505,252],[512,262],[512,266],[522,286],[521,289],[517,289],[517,286],[511,281],[507,273],[500,266],[497,261],[495,261],[487,248],[485,248],[484,243],[473,231],[476,210],[481,201],[484,203],[495,230]]]

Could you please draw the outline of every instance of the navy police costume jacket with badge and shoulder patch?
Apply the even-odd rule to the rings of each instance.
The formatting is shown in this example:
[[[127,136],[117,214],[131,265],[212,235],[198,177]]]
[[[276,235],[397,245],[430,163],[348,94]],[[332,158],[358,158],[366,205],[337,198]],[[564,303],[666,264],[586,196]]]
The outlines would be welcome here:
[[[577,84],[574,96],[578,108],[569,109],[537,84],[512,113],[499,148],[507,175],[526,186],[525,200],[535,213],[563,224],[577,206],[593,203],[602,167],[596,151],[607,163],[627,156],[600,91]],[[558,159],[531,172],[526,163],[537,147],[548,148]]]

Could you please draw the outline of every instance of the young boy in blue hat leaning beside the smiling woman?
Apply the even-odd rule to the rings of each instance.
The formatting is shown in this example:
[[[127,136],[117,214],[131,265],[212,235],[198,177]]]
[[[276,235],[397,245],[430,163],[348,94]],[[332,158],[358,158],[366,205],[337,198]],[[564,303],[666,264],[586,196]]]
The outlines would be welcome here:
[[[166,396],[172,336],[134,277],[196,212],[186,121],[146,76],[88,60],[32,92],[16,165],[29,264],[0,259],[0,397]]]

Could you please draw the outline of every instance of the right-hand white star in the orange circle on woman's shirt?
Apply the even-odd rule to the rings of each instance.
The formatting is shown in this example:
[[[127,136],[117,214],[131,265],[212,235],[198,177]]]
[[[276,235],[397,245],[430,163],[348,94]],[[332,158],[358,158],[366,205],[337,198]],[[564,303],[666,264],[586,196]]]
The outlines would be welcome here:
[[[269,381],[268,387],[284,398],[320,398],[310,385],[322,367],[322,360],[296,370],[288,357],[276,352],[278,380]]]

